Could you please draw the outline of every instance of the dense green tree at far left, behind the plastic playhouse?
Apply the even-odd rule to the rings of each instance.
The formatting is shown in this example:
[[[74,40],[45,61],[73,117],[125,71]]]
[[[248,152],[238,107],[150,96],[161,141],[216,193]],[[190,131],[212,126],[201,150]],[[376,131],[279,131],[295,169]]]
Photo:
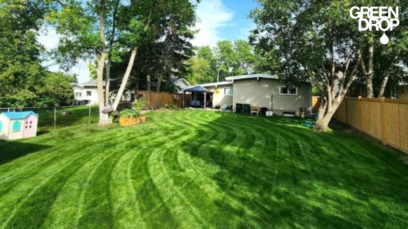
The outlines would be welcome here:
[[[46,73],[36,36],[48,7],[34,0],[4,0],[0,6],[0,104],[29,106]]]

